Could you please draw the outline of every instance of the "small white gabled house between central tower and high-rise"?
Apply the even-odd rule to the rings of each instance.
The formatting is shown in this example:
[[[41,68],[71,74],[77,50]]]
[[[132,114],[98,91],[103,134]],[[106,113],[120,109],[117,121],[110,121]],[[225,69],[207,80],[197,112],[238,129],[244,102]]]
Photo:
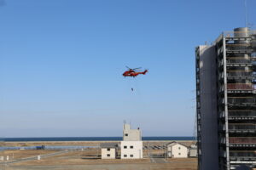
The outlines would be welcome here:
[[[168,157],[175,157],[175,158],[182,158],[188,157],[189,149],[184,144],[179,144],[177,142],[172,142],[167,144],[167,156]]]

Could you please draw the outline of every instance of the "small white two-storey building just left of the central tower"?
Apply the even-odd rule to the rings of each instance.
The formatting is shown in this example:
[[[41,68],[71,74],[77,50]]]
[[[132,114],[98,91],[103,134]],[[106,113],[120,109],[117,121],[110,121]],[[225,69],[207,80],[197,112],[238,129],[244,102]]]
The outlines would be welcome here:
[[[117,143],[103,143],[102,159],[115,159],[117,156],[118,144]]]

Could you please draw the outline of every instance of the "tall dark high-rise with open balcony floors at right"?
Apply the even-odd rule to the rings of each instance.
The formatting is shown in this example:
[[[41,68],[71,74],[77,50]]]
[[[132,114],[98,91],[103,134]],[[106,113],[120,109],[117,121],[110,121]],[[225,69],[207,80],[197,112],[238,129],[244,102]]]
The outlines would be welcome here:
[[[200,170],[256,168],[256,31],[195,48]]]

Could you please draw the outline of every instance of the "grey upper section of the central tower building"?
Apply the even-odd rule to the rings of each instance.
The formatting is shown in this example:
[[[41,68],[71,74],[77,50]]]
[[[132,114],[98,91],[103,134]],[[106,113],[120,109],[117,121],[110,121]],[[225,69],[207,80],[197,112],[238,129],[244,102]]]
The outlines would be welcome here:
[[[131,129],[130,124],[124,125],[123,140],[125,141],[138,141],[142,140],[142,133],[140,129]]]

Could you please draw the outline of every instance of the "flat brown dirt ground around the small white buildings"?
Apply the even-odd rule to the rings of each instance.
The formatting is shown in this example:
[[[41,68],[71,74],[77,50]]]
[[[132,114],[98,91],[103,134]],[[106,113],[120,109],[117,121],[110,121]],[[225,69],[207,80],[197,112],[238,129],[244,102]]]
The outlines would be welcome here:
[[[63,142],[62,142],[63,143]],[[45,145],[96,145],[102,142],[60,142],[44,143]],[[191,142],[185,142],[192,144]],[[20,144],[20,143],[19,143]],[[13,146],[19,144],[12,143]],[[42,145],[43,143],[29,143],[26,145]],[[144,144],[148,144],[145,142]],[[162,143],[154,142],[148,145],[160,145]],[[5,144],[9,145],[9,144]],[[152,158],[148,156],[162,154],[164,150],[143,150],[144,159],[139,160],[102,160],[100,159],[101,151],[99,149],[87,150],[5,150],[0,153],[9,156],[9,163],[0,164],[0,170],[196,170],[197,158]],[[45,156],[45,154],[55,154]],[[43,156],[41,160],[24,160],[24,158],[33,156]],[[0,161],[1,162],[1,161]]]

